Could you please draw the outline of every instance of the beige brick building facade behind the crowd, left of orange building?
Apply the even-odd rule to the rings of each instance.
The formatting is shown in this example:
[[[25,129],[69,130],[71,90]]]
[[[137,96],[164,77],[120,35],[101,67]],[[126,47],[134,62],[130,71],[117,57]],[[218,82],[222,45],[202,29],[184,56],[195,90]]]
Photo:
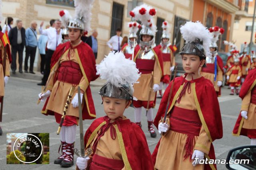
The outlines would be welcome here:
[[[180,45],[182,38],[180,36],[179,27],[185,21],[191,20],[192,4],[191,0],[94,0],[92,9],[91,28],[98,31],[98,58],[96,63],[104,58],[110,51],[106,42],[112,35],[115,35],[116,29],[122,29],[122,36],[129,33],[128,22],[131,20],[129,16],[130,10],[140,4],[148,4],[156,8],[157,13],[154,16],[154,22],[158,26],[156,35],[156,43],[160,43],[162,34],[162,21],[167,20],[170,23],[171,42]],[[36,20],[38,25],[44,21],[44,27],[52,18],[60,18],[60,10],[68,10],[74,16],[73,0],[3,0],[3,16],[14,18],[14,25],[17,19],[23,21],[23,27],[30,27],[30,22]],[[4,25],[4,20],[1,26]],[[89,32],[88,35],[91,33]],[[182,44],[183,45],[183,44]],[[38,65],[37,55],[35,66]]]

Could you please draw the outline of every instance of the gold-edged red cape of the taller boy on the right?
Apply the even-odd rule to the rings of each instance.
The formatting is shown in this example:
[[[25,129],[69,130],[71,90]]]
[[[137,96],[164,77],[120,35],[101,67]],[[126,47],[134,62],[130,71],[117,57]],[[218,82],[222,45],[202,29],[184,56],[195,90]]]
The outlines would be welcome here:
[[[176,77],[174,80],[175,81],[172,89],[169,109],[172,106],[172,102],[174,100],[175,94],[180,89],[183,76]],[[169,86],[166,88],[164,92],[164,96],[161,100],[158,112],[154,119],[154,125],[156,127],[158,127],[158,123],[161,117],[164,117],[172,81],[170,82]],[[204,129],[206,129],[206,133],[211,142],[214,141],[215,139],[221,139],[223,136],[222,119],[220,115],[220,106],[219,106],[219,102],[218,102],[218,98],[217,98],[214,86],[210,80],[204,78],[203,76],[193,80],[193,82],[195,84],[194,83],[192,83],[194,85],[191,84],[191,92],[193,92],[193,86],[195,86],[196,97],[198,99],[198,102],[196,101],[196,104],[198,104],[198,114],[199,116],[201,115],[204,118],[202,119],[202,117],[200,117],[202,125],[204,124],[206,125]],[[158,152],[159,144],[160,144],[160,141],[152,154],[153,161],[156,160],[156,154]],[[215,159],[214,147],[212,144],[211,144],[210,152],[208,156],[210,157],[210,159]],[[216,167],[216,165],[214,166]],[[211,169],[209,164],[205,165],[205,169],[206,170]]]

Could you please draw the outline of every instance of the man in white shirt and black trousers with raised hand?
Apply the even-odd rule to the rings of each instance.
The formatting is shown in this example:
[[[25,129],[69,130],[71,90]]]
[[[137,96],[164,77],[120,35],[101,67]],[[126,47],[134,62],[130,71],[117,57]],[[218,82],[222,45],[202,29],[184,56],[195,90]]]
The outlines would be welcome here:
[[[51,59],[54,51],[56,50],[56,47],[61,43],[62,36],[61,36],[61,21],[55,20],[54,23],[52,23],[53,20],[50,21],[50,24],[52,25],[48,29],[43,29],[42,26],[44,25],[44,22],[40,24],[39,33],[42,35],[48,36],[47,41],[47,52],[45,56],[45,70],[44,70],[44,77],[42,78],[42,82],[38,83],[37,85],[45,86],[46,81],[48,80],[48,76],[50,74],[50,65],[51,65]]]

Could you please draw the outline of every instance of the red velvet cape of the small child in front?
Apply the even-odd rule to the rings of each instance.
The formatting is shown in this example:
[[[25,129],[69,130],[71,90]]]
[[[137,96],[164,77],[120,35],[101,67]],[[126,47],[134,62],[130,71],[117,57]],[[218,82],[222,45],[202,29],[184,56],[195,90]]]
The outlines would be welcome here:
[[[94,137],[90,136],[96,130],[101,123],[103,123],[108,117],[100,117],[95,119],[90,127],[87,129],[84,135],[84,145],[90,145]],[[131,122],[130,119],[119,121],[121,127],[121,133],[123,143],[128,158],[128,163],[133,170],[153,170],[154,165],[151,157],[151,153],[148,149],[146,137],[142,129]],[[93,134],[95,134],[95,132]],[[96,135],[96,134],[95,134]],[[89,141],[90,139],[90,141]],[[89,143],[88,143],[89,141]],[[124,160],[125,161],[125,160]]]

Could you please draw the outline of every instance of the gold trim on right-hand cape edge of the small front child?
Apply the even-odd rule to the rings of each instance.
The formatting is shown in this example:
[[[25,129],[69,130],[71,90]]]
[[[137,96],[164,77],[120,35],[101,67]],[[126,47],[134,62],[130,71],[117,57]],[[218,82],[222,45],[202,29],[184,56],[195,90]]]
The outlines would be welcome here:
[[[124,166],[125,166],[126,170],[132,170],[132,167],[129,163],[129,160],[128,160],[128,157],[127,157],[127,154],[126,154],[126,150],[125,150],[125,147],[124,147],[124,140],[123,140],[123,137],[122,137],[122,133],[119,131],[117,125],[114,125],[114,127],[116,129],[116,134],[117,134],[118,143],[119,143],[119,147],[120,147],[120,150],[121,150]]]

